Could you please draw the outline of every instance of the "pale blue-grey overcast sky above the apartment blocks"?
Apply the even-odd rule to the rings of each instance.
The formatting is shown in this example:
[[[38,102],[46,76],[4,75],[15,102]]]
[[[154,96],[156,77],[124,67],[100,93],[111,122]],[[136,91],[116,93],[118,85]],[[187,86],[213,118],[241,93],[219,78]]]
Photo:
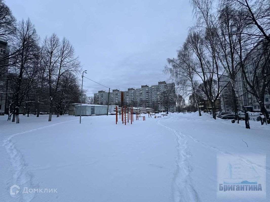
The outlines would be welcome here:
[[[188,28],[188,0],[8,0],[17,20],[28,17],[43,39],[55,32],[75,47],[87,77],[127,90],[168,81],[166,59],[176,57]],[[106,90],[84,79],[88,96]]]

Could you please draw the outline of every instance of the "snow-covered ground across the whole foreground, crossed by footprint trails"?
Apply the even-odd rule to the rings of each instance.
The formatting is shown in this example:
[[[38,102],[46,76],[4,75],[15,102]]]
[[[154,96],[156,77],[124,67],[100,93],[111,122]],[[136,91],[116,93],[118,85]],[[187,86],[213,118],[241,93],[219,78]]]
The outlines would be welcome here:
[[[197,113],[147,116],[146,121],[136,121],[134,116],[133,124],[126,126],[116,125],[113,115],[83,117],[82,124],[79,117],[66,115],[53,116],[52,122],[47,115],[20,116],[20,124],[6,119],[0,117],[0,201],[270,198],[270,126],[259,122],[251,121],[247,130],[244,121],[232,124]],[[237,193],[230,200],[225,198],[230,192],[218,196],[219,155],[237,156],[264,174],[266,187],[255,192],[266,196]],[[266,157],[266,165],[261,156]],[[19,192],[11,195],[14,184],[19,188],[12,190]]]

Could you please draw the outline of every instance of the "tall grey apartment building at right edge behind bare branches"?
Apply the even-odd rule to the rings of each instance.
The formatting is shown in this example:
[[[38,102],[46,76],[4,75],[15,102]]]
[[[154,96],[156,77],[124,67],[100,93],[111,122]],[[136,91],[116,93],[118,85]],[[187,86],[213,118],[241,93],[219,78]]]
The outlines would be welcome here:
[[[256,64],[257,61],[261,60],[261,55],[265,54],[263,53],[264,47],[264,41],[260,41],[248,54],[247,57],[245,58],[245,74],[247,76],[247,78],[249,79],[249,81],[252,81],[252,79],[254,79],[254,74],[256,71],[256,75],[259,76],[263,76],[260,75],[261,73],[261,68],[263,65],[261,64]],[[269,51],[269,50],[268,50]],[[255,62],[254,62],[255,61]],[[265,61],[262,61],[262,63]],[[255,63],[255,64],[254,64]],[[268,68],[269,70],[269,68]],[[268,73],[269,75],[269,73]],[[262,82],[262,79],[258,79],[258,82]],[[239,70],[236,74],[236,83],[235,83],[235,87],[236,90],[238,92],[238,97],[239,100],[241,101],[242,106],[244,106],[246,108],[247,111],[250,112],[260,112],[260,105],[258,100],[256,99],[256,97],[254,95],[252,95],[252,93],[249,92],[250,87],[247,85],[245,78],[244,78],[244,74],[242,72],[242,69],[239,67]],[[258,87],[262,86],[260,83],[256,84]],[[258,88],[258,90],[260,90],[260,88]],[[265,96],[264,96],[264,105],[265,105],[265,109],[270,112],[270,97],[269,97],[269,93],[267,90],[265,90]],[[242,110],[241,105],[239,104],[238,109]]]

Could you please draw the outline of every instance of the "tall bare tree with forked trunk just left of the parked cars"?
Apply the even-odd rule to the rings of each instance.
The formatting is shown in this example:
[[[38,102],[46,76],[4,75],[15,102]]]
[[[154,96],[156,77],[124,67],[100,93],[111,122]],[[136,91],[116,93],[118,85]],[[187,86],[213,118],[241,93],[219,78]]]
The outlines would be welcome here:
[[[195,54],[198,64],[196,73],[204,84],[205,95],[212,105],[213,118],[216,119],[215,102],[222,91],[220,77],[224,75],[219,60],[218,14],[213,11],[211,0],[191,0],[191,4],[197,25],[193,28],[195,31],[188,34],[187,44]]]

